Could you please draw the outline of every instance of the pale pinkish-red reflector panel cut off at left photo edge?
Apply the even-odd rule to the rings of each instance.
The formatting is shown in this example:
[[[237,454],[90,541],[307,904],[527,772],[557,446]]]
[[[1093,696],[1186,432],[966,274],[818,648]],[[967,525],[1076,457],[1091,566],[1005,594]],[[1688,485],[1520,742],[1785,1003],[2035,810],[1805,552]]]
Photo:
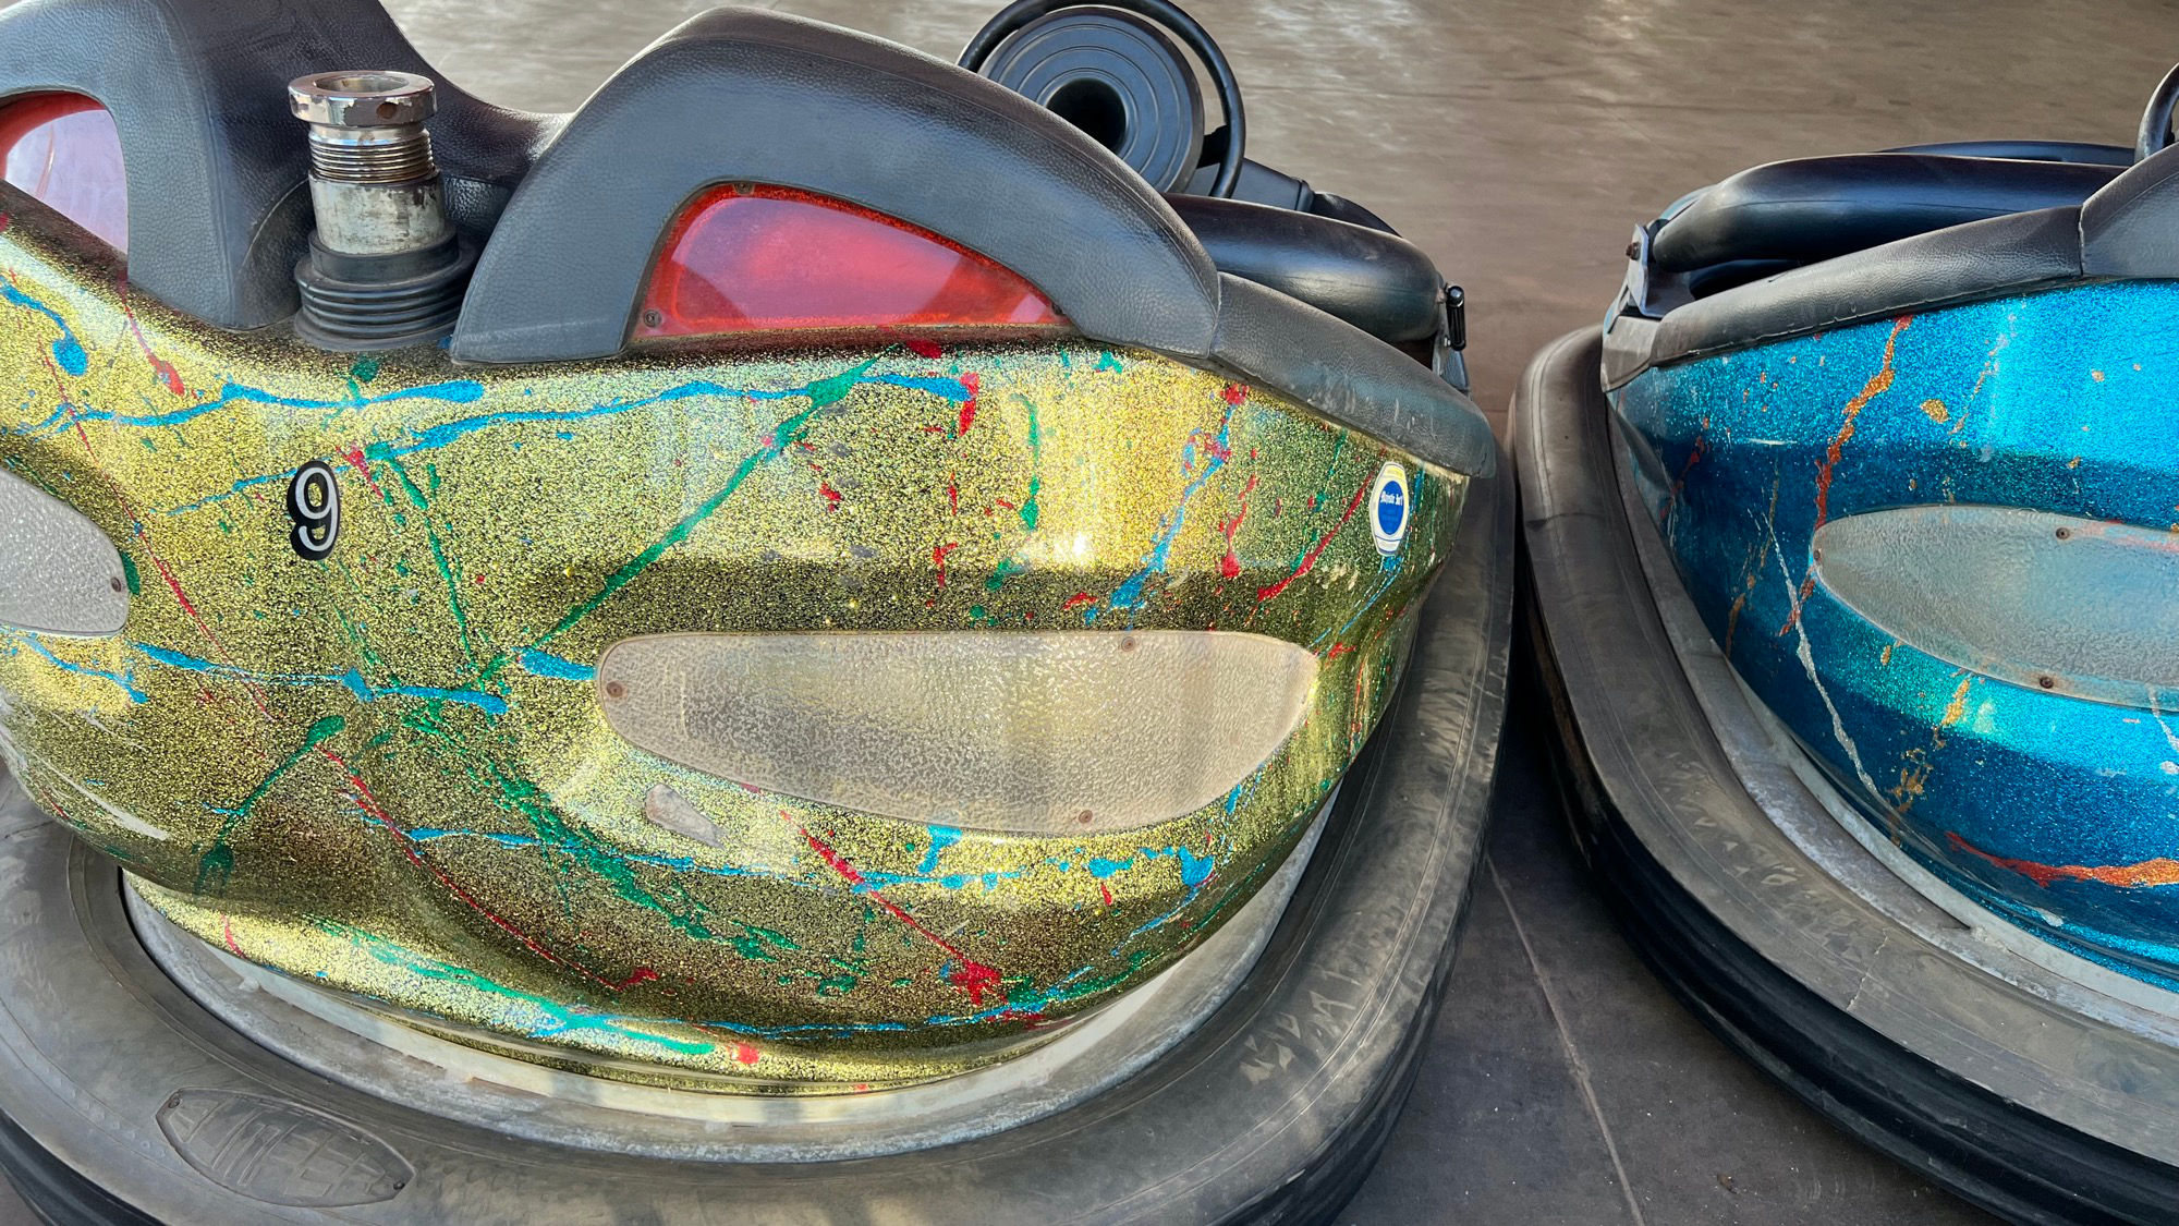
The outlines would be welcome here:
[[[26,94],[0,105],[9,183],[129,251],[129,179],[113,116],[83,94]]]

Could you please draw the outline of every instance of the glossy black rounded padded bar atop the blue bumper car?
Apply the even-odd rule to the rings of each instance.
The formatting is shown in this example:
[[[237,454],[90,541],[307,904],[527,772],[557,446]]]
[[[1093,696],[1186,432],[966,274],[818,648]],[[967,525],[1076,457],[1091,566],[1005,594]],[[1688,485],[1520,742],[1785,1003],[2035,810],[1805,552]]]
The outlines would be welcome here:
[[[1741,170],[1658,229],[1650,262],[1689,273],[1734,260],[1811,264],[1970,220],[2079,205],[2118,166],[1852,153]]]

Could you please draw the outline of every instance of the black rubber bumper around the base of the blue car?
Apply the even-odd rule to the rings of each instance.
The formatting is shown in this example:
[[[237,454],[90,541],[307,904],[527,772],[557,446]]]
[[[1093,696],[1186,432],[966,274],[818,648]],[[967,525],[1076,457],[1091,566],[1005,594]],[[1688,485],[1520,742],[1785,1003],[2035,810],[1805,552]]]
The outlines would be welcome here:
[[[1691,683],[1689,659],[1721,657],[1682,657],[1660,613],[1684,596],[1643,565],[1597,369],[1597,336],[1567,336],[1514,399],[1523,630],[1560,798],[1628,938],[1728,1045],[1965,1200],[2037,1224],[2179,1219],[2179,1051],[1926,940],[1833,875],[1878,868],[1837,820],[1811,809],[1813,833],[1787,838],[1793,774],[1750,788]],[[1811,838],[1833,838],[1824,862]]]

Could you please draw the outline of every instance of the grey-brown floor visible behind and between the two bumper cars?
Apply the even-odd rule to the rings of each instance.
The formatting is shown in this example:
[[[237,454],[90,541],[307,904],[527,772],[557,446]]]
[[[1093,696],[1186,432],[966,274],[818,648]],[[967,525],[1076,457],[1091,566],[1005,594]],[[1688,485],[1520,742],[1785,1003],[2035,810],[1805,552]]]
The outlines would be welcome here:
[[[567,109],[686,0],[390,0],[440,72]],[[952,57],[996,0],[787,0]],[[1190,0],[1249,151],[1384,214],[1469,288],[1477,399],[1599,316],[1628,229],[1811,153],[1965,137],[2131,144],[2179,59],[2148,0]],[[721,116],[719,122],[732,122]],[[1514,731],[1453,993],[1342,1222],[1963,1224],[1711,1038],[1588,897]],[[11,1211],[13,1209],[13,1211]],[[31,1222],[0,1204],[0,1224]]]

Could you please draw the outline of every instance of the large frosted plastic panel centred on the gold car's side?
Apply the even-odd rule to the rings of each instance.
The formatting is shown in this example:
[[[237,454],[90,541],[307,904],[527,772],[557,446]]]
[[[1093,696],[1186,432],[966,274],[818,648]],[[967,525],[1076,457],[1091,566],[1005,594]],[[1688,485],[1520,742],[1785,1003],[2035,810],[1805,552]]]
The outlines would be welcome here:
[[[597,663],[612,729],[682,766],[1031,836],[1209,805],[1314,683],[1305,648],[1225,630],[649,635]]]

